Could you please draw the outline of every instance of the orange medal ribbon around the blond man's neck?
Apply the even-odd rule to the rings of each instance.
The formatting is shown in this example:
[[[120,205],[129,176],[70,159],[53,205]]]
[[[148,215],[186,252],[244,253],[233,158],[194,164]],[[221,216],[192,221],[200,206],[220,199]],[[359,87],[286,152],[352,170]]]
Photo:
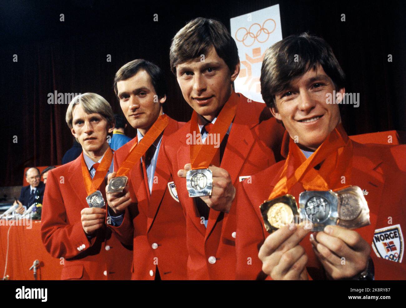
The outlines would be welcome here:
[[[108,147],[106,153],[102,158],[102,162],[97,167],[95,176],[92,178],[89,174],[89,169],[87,168],[86,162],[84,161],[82,153],[82,174],[84,179],[84,187],[86,188],[87,195],[93,194],[96,190],[98,190],[100,184],[104,181],[104,177],[106,177],[107,171],[110,168],[111,161],[113,159],[113,151]]]

